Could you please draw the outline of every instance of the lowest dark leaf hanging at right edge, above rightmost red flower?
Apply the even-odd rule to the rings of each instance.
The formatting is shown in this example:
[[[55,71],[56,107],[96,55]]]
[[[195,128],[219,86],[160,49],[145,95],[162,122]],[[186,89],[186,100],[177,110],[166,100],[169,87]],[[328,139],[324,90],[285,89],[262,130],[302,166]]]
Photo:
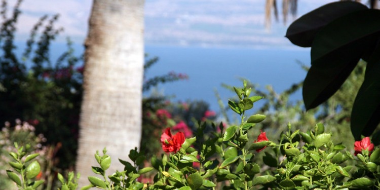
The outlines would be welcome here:
[[[370,57],[364,82],[351,113],[351,131],[356,140],[361,135],[369,136],[380,122],[380,46],[377,46]]]

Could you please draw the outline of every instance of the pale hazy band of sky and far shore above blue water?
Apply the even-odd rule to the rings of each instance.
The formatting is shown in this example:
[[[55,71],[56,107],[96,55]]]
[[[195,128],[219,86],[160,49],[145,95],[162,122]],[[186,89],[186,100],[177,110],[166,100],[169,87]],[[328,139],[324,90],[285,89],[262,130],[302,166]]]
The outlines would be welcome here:
[[[15,0],[9,1],[10,6]],[[282,1],[279,1],[282,2]],[[298,0],[298,16],[332,0]],[[146,0],[145,44],[201,47],[289,46],[286,25],[264,27],[264,0]],[[27,36],[43,15],[59,13],[62,37],[82,43],[92,0],[24,0],[18,32]],[[281,7],[281,3],[279,5]],[[281,20],[281,18],[280,18]],[[287,23],[288,25],[289,23]]]

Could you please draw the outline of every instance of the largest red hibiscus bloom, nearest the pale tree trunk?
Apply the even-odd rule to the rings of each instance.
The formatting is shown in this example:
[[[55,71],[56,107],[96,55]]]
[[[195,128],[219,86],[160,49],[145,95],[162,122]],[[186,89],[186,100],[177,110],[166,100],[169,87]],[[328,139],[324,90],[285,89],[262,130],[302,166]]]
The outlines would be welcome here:
[[[185,141],[185,135],[182,132],[178,132],[172,135],[170,128],[166,128],[165,132],[161,135],[162,149],[165,153],[176,153],[181,148]]]

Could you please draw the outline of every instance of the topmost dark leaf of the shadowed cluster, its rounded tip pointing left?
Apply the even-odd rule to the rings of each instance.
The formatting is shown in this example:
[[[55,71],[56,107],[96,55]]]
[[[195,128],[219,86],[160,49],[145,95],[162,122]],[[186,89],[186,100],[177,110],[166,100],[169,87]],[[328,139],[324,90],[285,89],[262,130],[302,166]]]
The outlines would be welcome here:
[[[316,33],[321,28],[336,18],[364,9],[368,8],[356,2],[326,4],[295,20],[286,31],[286,37],[297,46],[311,47]]]

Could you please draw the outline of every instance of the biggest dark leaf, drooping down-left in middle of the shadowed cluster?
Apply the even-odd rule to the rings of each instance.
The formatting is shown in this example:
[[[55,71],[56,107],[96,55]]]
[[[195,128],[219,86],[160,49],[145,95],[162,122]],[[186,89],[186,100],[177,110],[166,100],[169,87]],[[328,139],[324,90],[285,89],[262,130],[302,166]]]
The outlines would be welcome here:
[[[331,97],[346,81],[365,52],[372,52],[380,34],[380,11],[364,10],[338,18],[315,36],[312,66],[303,83],[307,109]]]

